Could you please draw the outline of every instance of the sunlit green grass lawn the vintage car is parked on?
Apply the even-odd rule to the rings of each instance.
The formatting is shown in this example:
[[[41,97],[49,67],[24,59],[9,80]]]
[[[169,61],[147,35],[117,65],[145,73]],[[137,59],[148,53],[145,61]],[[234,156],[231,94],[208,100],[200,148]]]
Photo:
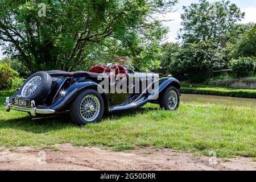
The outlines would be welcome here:
[[[0,92],[0,146],[43,148],[72,143],[115,151],[154,146],[204,155],[214,151],[221,158],[256,157],[255,107],[186,102],[177,111],[164,111],[147,104],[79,127],[67,117],[31,121],[27,113],[6,113],[2,103],[11,94]]]

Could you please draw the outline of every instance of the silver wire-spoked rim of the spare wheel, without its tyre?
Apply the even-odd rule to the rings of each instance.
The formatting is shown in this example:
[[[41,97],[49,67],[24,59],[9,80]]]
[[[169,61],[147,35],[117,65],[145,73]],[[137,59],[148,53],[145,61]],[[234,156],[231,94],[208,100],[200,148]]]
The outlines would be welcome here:
[[[42,78],[40,76],[32,77],[28,82],[23,86],[21,91],[21,96],[23,98],[30,97],[32,94],[36,92],[36,90],[41,85]]]

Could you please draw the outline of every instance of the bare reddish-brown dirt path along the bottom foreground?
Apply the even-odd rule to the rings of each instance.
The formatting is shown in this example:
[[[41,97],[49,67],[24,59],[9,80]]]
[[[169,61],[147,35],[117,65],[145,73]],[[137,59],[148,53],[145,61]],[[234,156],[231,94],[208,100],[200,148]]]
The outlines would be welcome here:
[[[143,148],[127,153],[96,147],[73,147],[72,144],[57,147],[59,151],[28,147],[10,151],[2,148],[0,170],[256,170],[256,163],[250,158],[224,162],[168,149]]]

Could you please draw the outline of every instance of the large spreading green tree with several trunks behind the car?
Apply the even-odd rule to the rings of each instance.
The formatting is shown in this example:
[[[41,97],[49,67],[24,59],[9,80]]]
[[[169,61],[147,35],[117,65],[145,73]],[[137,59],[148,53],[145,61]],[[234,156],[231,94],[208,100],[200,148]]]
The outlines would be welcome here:
[[[167,28],[155,18],[177,0],[2,0],[0,44],[31,71],[73,71],[92,52],[133,53],[151,65]],[[113,51],[112,45],[118,46]],[[147,53],[149,57],[145,56]],[[135,59],[135,60],[136,60]],[[147,62],[149,60],[149,62]]]

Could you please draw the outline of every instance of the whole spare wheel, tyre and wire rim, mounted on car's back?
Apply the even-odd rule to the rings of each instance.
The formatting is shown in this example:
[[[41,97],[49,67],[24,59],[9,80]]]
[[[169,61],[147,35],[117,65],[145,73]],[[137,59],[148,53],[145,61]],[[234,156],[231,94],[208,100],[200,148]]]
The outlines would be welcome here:
[[[27,100],[43,101],[51,91],[52,77],[47,72],[37,72],[27,78],[18,94]]]

